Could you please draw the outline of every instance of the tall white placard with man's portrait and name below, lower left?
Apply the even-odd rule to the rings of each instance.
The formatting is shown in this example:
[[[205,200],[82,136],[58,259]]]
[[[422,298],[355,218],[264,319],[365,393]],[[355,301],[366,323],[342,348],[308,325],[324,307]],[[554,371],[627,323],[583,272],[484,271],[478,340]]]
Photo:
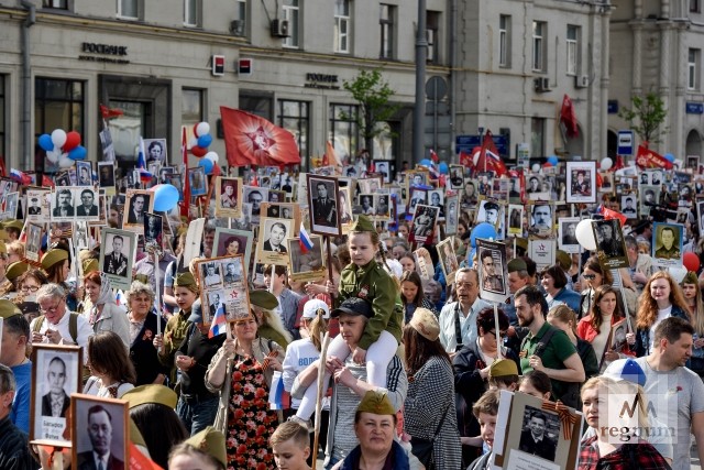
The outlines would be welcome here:
[[[80,392],[84,368],[79,346],[32,345],[30,440],[70,446],[70,395]]]

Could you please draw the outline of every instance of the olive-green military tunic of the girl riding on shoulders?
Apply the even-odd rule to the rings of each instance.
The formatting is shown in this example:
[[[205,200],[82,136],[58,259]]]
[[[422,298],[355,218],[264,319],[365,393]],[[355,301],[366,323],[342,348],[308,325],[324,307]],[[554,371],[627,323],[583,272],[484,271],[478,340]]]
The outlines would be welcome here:
[[[382,331],[394,335],[400,343],[404,307],[400,303],[400,292],[396,282],[376,261],[364,266],[350,263],[340,274],[340,295],[336,306],[350,297],[360,297],[372,304],[374,316],[364,328],[359,347],[370,349],[378,339]]]

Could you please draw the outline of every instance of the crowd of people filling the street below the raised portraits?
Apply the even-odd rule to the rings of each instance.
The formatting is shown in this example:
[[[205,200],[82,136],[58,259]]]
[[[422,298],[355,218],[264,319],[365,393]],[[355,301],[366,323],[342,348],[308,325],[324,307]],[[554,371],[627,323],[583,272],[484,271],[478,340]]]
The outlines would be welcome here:
[[[334,206],[327,186],[317,192]],[[302,470],[323,455],[326,469],[491,469],[508,451],[507,438],[494,449],[505,392],[582,413],[582,433],[569,439],[579,469],[689,469],[692,449],[704,459],[704,274],[657,266],[648,217],[623,226],[628,267],[604,267],[598,250],[559,250],[539,267],[522,238],[527,219],[521,237],[505,240],[502,271],[504,258],[477,256],[476,203],[462,199],[457,233],[446,238],[452,250],[442,253],[437,223],[418,222],[428,237],[420,245],[413,217],[382,225],[360,214],[333,238],[330,271],[318,281],[251,261],[249,315],[217,331],[207,319],[224,299],[209,296],[204,306],[201,292],[220,274],[196,267],[213,258],[210,222],[189,262],[187,223],[167,253],[138,243],[124,292],[101,271],[99,244],[73,256],[70,238],[46,237],[32,263],[23,223],[3,223],[0,469],[53,469],[59,456],[64,468],[124,464],[105,445],[106,424],[102,435],[87,430],[94,455],[86,461],[73,462],[67,447],[30,442],[37,409],[65,417],[72,403],[70,364],[33,370],[33,345],[80,347],[78,392],[125,401],[132,451],[164,469]],[[498,230],[506,211],[490,204]],[[314,218],[327,220],[323,209]],[[701,255],[698,229],[686,223]],[[482,298],[503,286],[504,302]],[[44,379],[48,393],[37,395]],[[603,430],[612,419],[603,404],[624,395],[639,428],[614,441]],[[89,412],[96,422],[106,415]],[[658,426],[671,435],[642,431]],[[510,451],[560,464],[561,439],[550,414],[536,409]]]

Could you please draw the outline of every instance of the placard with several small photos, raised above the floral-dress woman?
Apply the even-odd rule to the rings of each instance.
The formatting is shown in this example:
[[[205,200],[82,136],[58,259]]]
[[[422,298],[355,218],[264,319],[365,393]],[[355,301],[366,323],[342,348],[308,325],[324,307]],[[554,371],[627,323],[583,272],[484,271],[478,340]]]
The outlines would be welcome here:
[[[251,315],[243,255],[198,261],[196,272],[201,286],[204,325],[212,324],[218,310],[224,314],[227,321],[237,321]]]

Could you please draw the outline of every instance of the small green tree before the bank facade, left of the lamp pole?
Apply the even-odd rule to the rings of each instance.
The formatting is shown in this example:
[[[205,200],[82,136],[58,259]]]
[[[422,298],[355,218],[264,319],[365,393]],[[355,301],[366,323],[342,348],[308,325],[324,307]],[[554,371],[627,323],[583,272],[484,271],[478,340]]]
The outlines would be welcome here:
[[[360,70],[353,80],[344,80],[342,88],[348,90],[359,103],[360,112],[356,116],[342,113],[341,118],[356,122],[362,131],[364,146],[374,159],[374,138],[386,131],[383,125],[398,110],[399,106],[391,102],[396,94],[388,81],[382,77],[380,69]]]

